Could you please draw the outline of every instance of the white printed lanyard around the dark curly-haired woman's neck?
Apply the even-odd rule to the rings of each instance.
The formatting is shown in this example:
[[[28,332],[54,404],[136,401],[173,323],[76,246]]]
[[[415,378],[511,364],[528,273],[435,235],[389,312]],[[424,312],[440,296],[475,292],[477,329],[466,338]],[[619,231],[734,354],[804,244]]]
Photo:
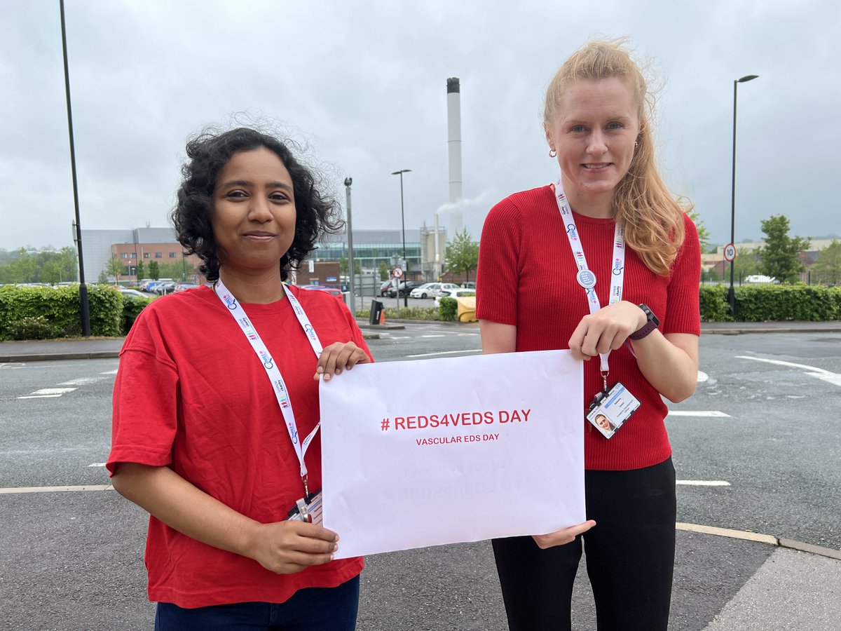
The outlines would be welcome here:
[[[222,279],[216,281],[214,286],[214,291],[216,295],[219,297],[219,300],[222,301],[222,304],[227,307],[230,311],[231,317],[234,318],[237,325],[240,326],[242,329],[243,334],[246,336],[246,339],[251,344],[251,348],[254,349],[254,353],[257,354],[257,358],[260,359],[260,363],[262,363],[263,369],[266,370],[266,374],[268,376],[269,381],[272,382],[272,390],[274,390],[274,395],[278,399],[278,406],[280,406],[280,411],[283,414],[283,421],[286,422],[286,429],[289,432],[289,438],[292,439],[292,446],[295,449],[295,453],[298,456],[298,461],[301,465],[301,480],[304,481],[304,496],[309,495],[309,490],[307,489],[307,465],[304,464],[304,456],[307,453],[307,448],[309,447],[309,443],[312,443],[312,439],[315,437],[315,434],[318,432],[319,427],[321,427],[321,422],[318,422],[315,425],[315,428],[312,432],[309,432],[309,436],[305,437],[303,441],[299,441],[298,437],[298,424],[295,422],[295,414],[292,411],[292,404],[289,402],[289,395],[288,390],[286,389],[286,383],[283,381],[283,376],[280,374],[280,370],[275,365],[272,356],[269,354],[266,345],[263,344],[262,339],[257,334],[257,330],[251,325],[251,321],[248,319],[246,315],[246,311],[241,307],[240,303],[234,298],[233,294],[228,291],[228,288],[225,287],[225,284],[222,283]],[[319,342],[318,336],[315,335],[315,329],[313,329],[312,324],[309,323],[309,318],[304,313],[304,308],[299,303],[298,299],[294,297],[289,288],[284,284],[283,291],[286,293],[286,297],[289,299],[289,303],[292,305],[292,309],[295,312],[296,317],[298,318],[299,324],[301,328],[304,329],[304,333],[309,340],[309,345],[313,347],[313,352],[315,353],[315,357],[319,357],[321,351],[324,350],[321,347],[321,342]]]

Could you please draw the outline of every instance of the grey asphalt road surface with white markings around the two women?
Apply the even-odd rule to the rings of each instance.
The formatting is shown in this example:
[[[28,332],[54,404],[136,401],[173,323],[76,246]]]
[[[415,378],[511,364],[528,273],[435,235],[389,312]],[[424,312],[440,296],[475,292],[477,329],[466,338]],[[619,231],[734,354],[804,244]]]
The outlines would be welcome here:
[[[379,361],[480,346],[472,326],[382,333],[369,342]],[[0,364],[0,488],[107,484],[116,368],[115,359]],[[687,483],[678,487],[680,521],[841,549],[841,337],[705,336],[701,371],[696,395],[672,406],[682,416],[667,419]],[[109,490],[0,493],[0,522],[0,628],[151,628],[139,508]],[[703,555],[686,556],[697,537],[678,533],[673,628],[705,628],[770,555],[762,544],[712,538]],[[587,591],[579,581],[577,628],[595,628]],[[358,628],[505,628],[489,545],[370,557]]]

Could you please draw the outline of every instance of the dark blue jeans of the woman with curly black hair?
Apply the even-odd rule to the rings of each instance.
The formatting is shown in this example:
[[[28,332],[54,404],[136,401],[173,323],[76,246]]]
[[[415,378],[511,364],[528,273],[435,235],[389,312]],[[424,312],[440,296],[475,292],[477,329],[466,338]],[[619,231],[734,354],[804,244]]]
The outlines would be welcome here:
[[[287,602],[235,602],[185,609],[159,602],[155,631],[353,631],[357,627],[359,577],[336,587],[308,587]]]

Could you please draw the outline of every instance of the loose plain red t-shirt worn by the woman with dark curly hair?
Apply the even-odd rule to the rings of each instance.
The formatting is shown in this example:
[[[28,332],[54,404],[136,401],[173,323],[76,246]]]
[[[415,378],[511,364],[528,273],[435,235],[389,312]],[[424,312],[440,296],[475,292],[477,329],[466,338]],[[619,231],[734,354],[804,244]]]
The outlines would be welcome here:
[[[368,347],[341,300],[292,288],[321,343]],[[286,382],[300,436],[319,419],[316,358],[288,300],[242,305]],[[368,353],[370,355],[370,353]],[[341,379],[341,377],[340,377]],[[262,363],[212,289],[155,300],[120,352],[108,471],[121,462],[170,466],[210,496],[262,523],[288,517],[303,495],[298,458]],[[321,441],[306,453],[309,489],[321,485]],[[340,533],[341,534],[341,533]],[[341,585],[362,558],[279,575],[150,518],[149,599],[180,607],[284,602],[304,587]]]

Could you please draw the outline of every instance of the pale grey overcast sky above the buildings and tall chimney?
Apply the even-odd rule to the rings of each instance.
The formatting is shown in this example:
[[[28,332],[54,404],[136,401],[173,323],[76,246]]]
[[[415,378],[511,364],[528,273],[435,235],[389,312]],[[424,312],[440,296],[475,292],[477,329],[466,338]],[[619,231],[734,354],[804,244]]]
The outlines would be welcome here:
[[[515,8],[516,7],[516,8]],[[447,77],[461,79],[464,223],[549,183],[542,98],[569,54],[627,35],[653,60],[664,177],[736,241],[786,215],[841,234],[841,3],[66,0],[82,229],[167,225],[189,135],[267,120],[306,145],[355,228],[431,226],[448,201]],[[58,0],[3,0],[0,247],[71,245],[73,197]],[[452,236],[452,235],[450,235]]]

